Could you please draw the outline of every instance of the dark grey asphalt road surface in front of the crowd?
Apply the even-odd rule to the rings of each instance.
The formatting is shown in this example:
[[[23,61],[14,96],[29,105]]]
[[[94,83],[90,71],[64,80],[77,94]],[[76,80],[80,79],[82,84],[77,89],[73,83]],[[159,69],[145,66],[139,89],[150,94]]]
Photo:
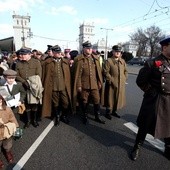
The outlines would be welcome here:
[[[113,117],[110,121],[103,117],[106,124],[99,124],[93,120],[92,109],[89,109],[88,125],[82,124],[79,115],[70,117],[70,125],[61,123],[59,127],[53,127],[50,119],[43,119],[38,128],[26,129],[23,138],[14,141],[15,163],[6,169],[15,166],[24,170],[169,170],[170,161],[148,142],[144,143],[136,162],[129,158],[135,133],[124,123],[136,122],[143,95],[135,80],[136,75],[129,74],[127,106],[119,111],[120,119]],[[43,138],[42,132],[49,124],[51,129]],[[42,141],[31,147],[37,138]]]

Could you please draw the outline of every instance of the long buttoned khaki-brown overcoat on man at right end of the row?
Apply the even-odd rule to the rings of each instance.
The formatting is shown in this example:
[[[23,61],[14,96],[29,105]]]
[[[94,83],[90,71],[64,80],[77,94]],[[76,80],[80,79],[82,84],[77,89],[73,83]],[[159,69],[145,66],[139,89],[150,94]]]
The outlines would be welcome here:
[[[121,109],[126,104],[125,83],[128,71],[125,61],[119,62],[111,57],[105,61],[103,74],[105,77],[104,106],[110,109]]]

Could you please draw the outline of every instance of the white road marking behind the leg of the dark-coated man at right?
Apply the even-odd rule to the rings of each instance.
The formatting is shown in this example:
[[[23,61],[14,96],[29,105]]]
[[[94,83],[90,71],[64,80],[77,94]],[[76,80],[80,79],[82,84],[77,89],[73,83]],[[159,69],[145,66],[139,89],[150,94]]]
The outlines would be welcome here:
[[[128,127],[130,130],[132,130],[133,132],[137,133],[138,127],[134,123],[128,122],[128,123],[124,123],[124,125]],[[153,146],[155,146],[156,148],[158,148],[159,150],[161,150],[162,152],[164,152],[165,146],[164,146],[164,142],[162,142],[161,140],[154,139],[154,137],[150,134],[147,134],[145,140],[148,141]]]

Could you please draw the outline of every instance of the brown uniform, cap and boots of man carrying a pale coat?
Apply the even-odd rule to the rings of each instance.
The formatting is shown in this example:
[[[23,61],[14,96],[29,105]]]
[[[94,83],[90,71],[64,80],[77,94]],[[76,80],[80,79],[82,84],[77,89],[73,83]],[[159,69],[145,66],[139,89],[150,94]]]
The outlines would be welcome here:
[[[21,48],[21,55],[31,54],[29,49]],[[28,78],[34,75],[38,75],[41,79],[42,77],[42,67],[39,60],[30,58],[28,61],[21,60],[16,64],[17,77],[16,81],[19,81],[25,87],[25,90],[28,92],[30,90],[30,86],[27,82]],[[25,128],[29,127],[30,122],[34,127],[38,126],[37,118],[38,118],[38,105],[37,104],[29,104],[26,100],[26,124]]]

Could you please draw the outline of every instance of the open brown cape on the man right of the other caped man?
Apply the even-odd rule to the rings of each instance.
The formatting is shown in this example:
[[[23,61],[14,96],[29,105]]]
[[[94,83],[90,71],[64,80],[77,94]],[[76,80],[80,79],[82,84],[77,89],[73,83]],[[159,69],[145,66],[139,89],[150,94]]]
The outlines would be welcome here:
[[[101,84],[101,89],[100,89],[100,97],[101,100],[103,99],[103,76],[102,76],[102,69],[100,66],[100,62],[99,62],[99,58],[96,55],[92,54],[92,58],[94,60],[94,63],[96,65],[96,76],[98,81]],[[79,77],[79,73],[81,72],[81,69],[83,67],[83,64],[85,62],[85,56],[83,54],[78,55],[75,59],[74,59],[74,68],[73,68],[73,77],[74,77],[74,89],[73,89],[73,110],[76,110],[76,106],[78,104],[78,93],[77,93],[77,81],[78,81],[78,77]],[[83,81],[84,84],[86,84],[85,80]],[[87,82],[89,83],[89,82]]]

